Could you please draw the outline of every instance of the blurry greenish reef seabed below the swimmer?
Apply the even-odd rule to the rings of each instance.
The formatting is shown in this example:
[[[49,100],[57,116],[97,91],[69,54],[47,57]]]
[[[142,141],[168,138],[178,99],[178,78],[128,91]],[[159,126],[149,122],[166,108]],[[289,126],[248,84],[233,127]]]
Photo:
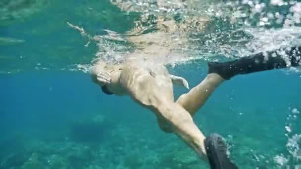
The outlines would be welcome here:
[[[245,111],[244,116],[248,117],[249,113],[251,115],[253,111]],[[208,119],[206,116],[202,117]],[[210,116],[213,117],[214,115],[211,114]],[[232,118],[230,112],[227,118]],[[252,118],[256,119],[254,117],[248,119],[251,121]],[[261,120],[264,118],[261,117]],[[119,121],[116,125],[116,122],[113,123],[109,119],[107,116],[97,114],[74,120],[71,125],[66,124],[71,131],[66,131],[66,139],[19,140],[19,144],[22,141],[24,144],[19,147],[26,148],[22,151],[15,150],[9,155],[0,157],[0,169],[208,168],[208,165],[200,160],[185,143],[175,135],[161,132],[153,124],[154,121],[149,123]],[[223,128],[216,129],[213,127],[213,129],[223,133],[223,135],[231,130],[235,131],[225,138],[230,145],[230,156],[240,168],[273,169],[298,164],[297,158],[300,150],[298,148],[293,149],[291,146],[289,150],[294,150],[291,151],[293,153],[297,152],[294,154],[296,157],[293,157],[285,146],[286,141],[296,137],[293,137],[293,134],[289,140],[278,137],[279,139],[271,141],[272,136],[277,134],[275,132],[277,130],[273,130],[269,125],[260,126],[261,131],[265,133],[262,134],[250,132],[252,129],[256,129],[256,127],[252,127],[252,123],[245,124],[237,130],[234,129],[233,124],[226,124],[222,121],[219,124],[222,124]],[[205,132],[208,132],[207,127],[211,127],[210,121],[202,122],[202,129]],[[105,130],[105,134],[99,136],[103,134],[101,133],[103,130]],[[75,137],[75,134],[78,136]],[[292,141],[288,143],[293,145]],[[294,146],[298,147],[298,144],[300,144],[298,139],[295,139]],[[295,159],[292,160],[292,158]]]

